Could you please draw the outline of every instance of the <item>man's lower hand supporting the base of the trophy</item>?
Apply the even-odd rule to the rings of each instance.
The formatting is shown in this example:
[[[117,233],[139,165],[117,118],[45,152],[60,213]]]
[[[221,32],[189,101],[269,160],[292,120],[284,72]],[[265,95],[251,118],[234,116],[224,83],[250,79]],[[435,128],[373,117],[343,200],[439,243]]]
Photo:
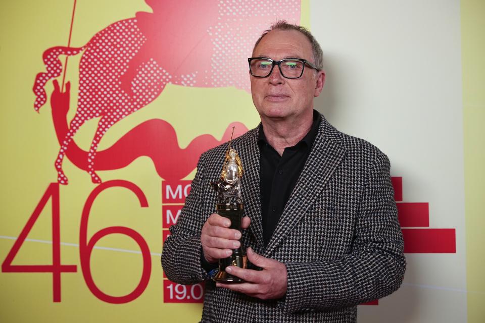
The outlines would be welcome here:
[[[248,248],[246,251],[248,259],[258,267],[263,268],[262,271],[254,271],[250,269],[243,269],[237,266],[226,267],[226,272],[242,278],[246,283],[240,284],[221,284],[217,283],[217,287],[228,288],[236,292],[244,293],[246,295],[257,297],[261,299],[281,298],[286,294],[287,288],[287,272],[284,263],[274,259],[265,258],[253,249]]]

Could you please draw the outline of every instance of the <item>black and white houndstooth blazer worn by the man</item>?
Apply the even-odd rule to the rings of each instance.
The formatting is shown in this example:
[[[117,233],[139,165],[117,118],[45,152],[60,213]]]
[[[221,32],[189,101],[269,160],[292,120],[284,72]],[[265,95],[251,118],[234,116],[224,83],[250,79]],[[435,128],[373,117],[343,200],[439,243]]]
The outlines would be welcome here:
[[[258,128],[232,143],[243,161],[242,196],[251,218],[241,243],[286,265],[286,295],[263,301],[216,288],[201,266],[202,226],[215,212],[209,182],[220,176],[227,144],[201,155],[164,244],[167,277],[179,284],[206,281],[202,322],[355,322],[357,304],[397,290],[405,271],[389,159],[322,116],[302,174],[264,248],[257,138]]]

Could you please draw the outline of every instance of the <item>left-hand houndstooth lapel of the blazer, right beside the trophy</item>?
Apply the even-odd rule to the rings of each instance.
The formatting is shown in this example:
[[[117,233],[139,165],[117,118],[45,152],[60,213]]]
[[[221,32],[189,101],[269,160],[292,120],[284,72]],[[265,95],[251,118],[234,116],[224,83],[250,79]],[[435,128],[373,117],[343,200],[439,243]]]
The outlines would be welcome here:
[[[257,143],[259,127],[253,130],[249,136],[248,144],[241,144],[240,151],[237,150],[243,163],[244,175],[241,181],[241,197],[244,203],[244,214],[251,218],[250,231],[260,246],[263,243],[263,224],[261,217],[261,193],[259,179],[259,147]]]

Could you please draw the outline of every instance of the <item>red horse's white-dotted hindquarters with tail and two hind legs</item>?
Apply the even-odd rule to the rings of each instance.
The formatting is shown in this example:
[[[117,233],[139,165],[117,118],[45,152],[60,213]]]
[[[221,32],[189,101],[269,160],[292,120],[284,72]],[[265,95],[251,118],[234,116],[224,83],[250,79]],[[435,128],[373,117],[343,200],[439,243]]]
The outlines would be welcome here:
[[[150,59],[137,68],[131,88],[128,91],[122,88],[122,75],[145,41],[146,37],[136,27],[136,20],[128,19],[105,28],[81,48],[55,47],[46,51],[47,73],[40,73],[34,85],[34,93],[39,94],[34,103],[36,110],[45,103],[43,85],[62,72],[59,55],[75,55],[85,48],[79,63],[76,114],[55,162],[59,183],[68,183],[62,171],[62,160],[72,138],[86,121],[101,117],[88,153],[88,173],[94,183],[100,183],[101,179],[94,172],[94,160],[103,135],[116,122],[153,101],[169,82],[171,76]]]

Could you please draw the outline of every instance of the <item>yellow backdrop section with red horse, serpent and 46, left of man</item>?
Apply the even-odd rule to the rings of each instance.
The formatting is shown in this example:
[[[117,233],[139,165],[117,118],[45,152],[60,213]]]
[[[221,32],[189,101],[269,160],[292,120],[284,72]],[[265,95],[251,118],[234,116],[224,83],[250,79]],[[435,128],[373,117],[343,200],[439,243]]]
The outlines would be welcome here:
[[[258,124],[247,58],[300,2],[1,12],[0,321],[197,321],[203,284],[164,277],[163,239],[200,154]]]

